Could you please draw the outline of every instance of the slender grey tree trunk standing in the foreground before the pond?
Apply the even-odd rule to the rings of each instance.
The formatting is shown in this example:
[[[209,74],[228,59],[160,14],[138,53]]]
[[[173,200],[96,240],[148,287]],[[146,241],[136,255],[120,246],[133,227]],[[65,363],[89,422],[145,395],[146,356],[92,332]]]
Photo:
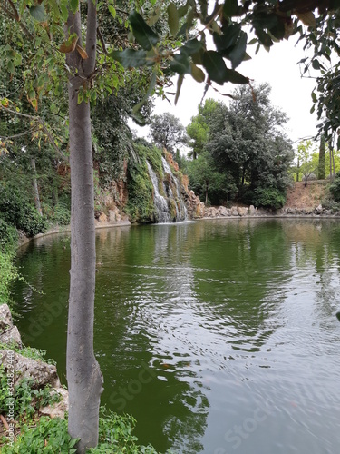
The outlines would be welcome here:
[[[95,5],[88,3],[86,51],[95,52]],[[92,27],[92,43],[89,27]],[[76,33],[81,45],[80,14],[70,14],[68,34]],[[94,31],[94,44],[93,44]],[[90,37],[91,37],[90,36]],[[95,58],[95,54],[94,54]],[[89,64],[90,63],[90,64]],[[98,443],[102,373],[93,351],[95,291],[95,230],[93,162],[90,104],[78,104],[78,91],[91,74],[91,62],[82,61],[77,51],[68,54],[73,76],[68,84],[71,166],[71,281],[67,330],[67,383],[69,390],[69,433],[80,438],[78,452]],[[77,74],[80,74],[81,77]]]

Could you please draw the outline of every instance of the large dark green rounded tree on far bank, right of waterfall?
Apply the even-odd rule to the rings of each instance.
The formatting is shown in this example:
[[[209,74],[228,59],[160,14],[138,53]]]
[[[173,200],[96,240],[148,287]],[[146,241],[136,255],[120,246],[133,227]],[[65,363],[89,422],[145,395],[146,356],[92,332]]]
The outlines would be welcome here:
[[[242,187],[273,187],[284,192],[287,168],[293,158],[291,143],[282,130],[287,115],[274,108],[270,87],[238,88],[224,118],[210,126],[207,148],[219,169],[228,170]],[[254,100],[255,97],[255,100]]]

